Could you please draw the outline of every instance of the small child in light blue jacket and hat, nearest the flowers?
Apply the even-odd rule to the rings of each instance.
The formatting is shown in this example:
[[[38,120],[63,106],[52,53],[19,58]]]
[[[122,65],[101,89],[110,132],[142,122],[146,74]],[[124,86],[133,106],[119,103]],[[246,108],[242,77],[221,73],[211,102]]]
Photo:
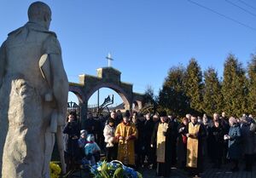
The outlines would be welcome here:
[[[87,143],[84,146],[85,157],[90,165],[95,165],[100,158],[101,148],[96,144],[94,135],[87,136]]]

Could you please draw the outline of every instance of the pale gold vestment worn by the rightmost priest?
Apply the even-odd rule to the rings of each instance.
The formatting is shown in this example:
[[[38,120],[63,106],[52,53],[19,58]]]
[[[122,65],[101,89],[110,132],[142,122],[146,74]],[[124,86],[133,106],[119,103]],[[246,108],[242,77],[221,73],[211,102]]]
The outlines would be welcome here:
[[[187,167],[197,168],[198,159],[198,137],[200,124],[189,123],[189,138],[187,142]]]

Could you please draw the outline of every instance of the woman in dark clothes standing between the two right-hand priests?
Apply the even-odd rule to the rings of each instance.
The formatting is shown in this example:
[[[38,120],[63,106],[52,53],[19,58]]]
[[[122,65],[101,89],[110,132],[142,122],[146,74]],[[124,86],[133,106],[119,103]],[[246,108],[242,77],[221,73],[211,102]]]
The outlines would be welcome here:
[[[179,168],[184,169],[186,166],[187,157],[187,136],[185,128],[188,126],[188,118],[183,118],[182,123],[177,127],[177,165]]]

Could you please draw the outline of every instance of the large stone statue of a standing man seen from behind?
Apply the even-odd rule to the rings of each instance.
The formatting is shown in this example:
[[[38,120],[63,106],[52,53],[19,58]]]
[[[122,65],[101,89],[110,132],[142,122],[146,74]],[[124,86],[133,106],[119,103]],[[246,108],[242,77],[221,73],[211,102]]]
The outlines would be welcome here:
[[[55,134],[63,162],[61,128],[68,82],[61,46],[55,33],[49,32],[47,4],[32,3],[28,19],[9,33],[0,49],[2,178],[49,178]]]

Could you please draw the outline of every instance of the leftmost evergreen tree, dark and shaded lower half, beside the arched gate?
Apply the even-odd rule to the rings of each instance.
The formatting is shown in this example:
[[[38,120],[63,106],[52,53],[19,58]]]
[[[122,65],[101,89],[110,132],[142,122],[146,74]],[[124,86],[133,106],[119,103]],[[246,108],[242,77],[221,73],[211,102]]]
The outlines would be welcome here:
[[[160,89],[158,98],[160,109],[165,109],[177,116],[183,116],[189,111],[188,99],[183,90],[184,73],[183,66],[172,67],[163,88]]]

